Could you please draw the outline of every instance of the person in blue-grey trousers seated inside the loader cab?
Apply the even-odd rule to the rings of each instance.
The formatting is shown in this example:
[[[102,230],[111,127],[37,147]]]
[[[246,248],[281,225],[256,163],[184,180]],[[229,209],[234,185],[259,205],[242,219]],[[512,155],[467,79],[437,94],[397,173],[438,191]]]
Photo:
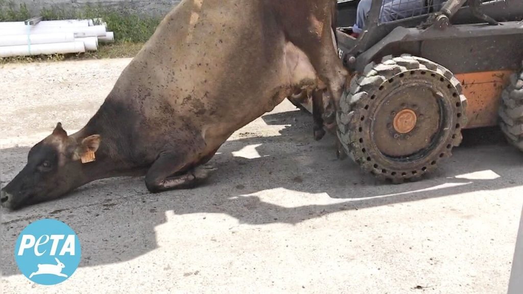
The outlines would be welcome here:
[[[433,9],[440,9],[445,1],[446,0],[383,0],[379,18],[380,23],[427,14],[433,11]],[[369,15],[371,5],[372,0],[361,0],[358,3],[356,24],[354,24],[351,36],[358,38],[363,29],[365,29],[365,22]]]

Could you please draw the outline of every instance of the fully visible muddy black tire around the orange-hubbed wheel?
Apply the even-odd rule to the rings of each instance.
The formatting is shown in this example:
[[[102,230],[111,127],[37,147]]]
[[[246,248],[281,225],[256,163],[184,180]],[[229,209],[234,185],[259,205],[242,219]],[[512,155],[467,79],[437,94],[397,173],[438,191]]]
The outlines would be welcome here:
[[[438,138],[436,143],[430,143],[427,154],[423,152],[422,155],[416,155],[415,159],[411,159],[409,155],[392,160],[392,157],[382,153],[373,141],[374,134],[371,132],[374,131],[371,126],[374,119],[370,119],[373,118],[371,111],[379,111],[382,105],[380,103],[386,97],[379,95],[383,86],[393,83],[394,79],[404,79],[408,82],[411,72],[415,73],[412,76],[430,78],[431,81],[442,83],[431,84],[434,87],[448,88],[448,91],[445,90],[448,95],[441,99],[445,100],[446,116],[442,120],[445,122],[445,128],[436,129],[441,138]],[[371,63],[360,76],[355,76],[350,91],[346,91],[342,96],[337,112],[338,138],[347,154],[364,172],[371,173],[380,180],[390,180],[397,184],[405,180],[419,180],[433,172],[442,159],[452,155],[452,148],[461,143],[461,129],[467,124],[466,108],[467,99],[462,94],[460,82],[445,67],[408,54],[385,56],[381,63]],[[440,110],[437,111],[439,113]]]

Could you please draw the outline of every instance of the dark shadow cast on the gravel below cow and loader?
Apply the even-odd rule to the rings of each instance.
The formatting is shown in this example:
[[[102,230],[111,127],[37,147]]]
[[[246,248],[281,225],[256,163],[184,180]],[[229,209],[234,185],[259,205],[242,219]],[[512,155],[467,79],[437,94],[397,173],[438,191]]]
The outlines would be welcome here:
[[[151,195],[143,178],[106,179],[62,200],[30,208],[16,218],[6,219],[9,212],[4,210],[3,274],[19,273],[12,254],[15,240],[25,225],[38,218],[58,218],[71,225],[82,242],[81,266],[98,266],[127,261],[157,248],[155,227],[166,222],[166,211],[175,215],[221,213],[251,225],[296,224],[339,211],[523,185],[523,155],[506,144],[497,128],[466,131],[462,146],[432,176],[389,185],[363,175],[350,160],[338,161],[332,135],[315,142],[309,115],[290,111],[266,115],[263,120],[286,127],[277,136],[240,133],[240,139],[226,142],[211,161],[218,171],[197,189]],[[4,158],[16,159],[7,169],[13,173],[12,169],[20,168],[27,150],[2,150]],[[336,203],[283,207],[259,196],[261,191],[272,191],[280,197],[286,190],[328,195]]]

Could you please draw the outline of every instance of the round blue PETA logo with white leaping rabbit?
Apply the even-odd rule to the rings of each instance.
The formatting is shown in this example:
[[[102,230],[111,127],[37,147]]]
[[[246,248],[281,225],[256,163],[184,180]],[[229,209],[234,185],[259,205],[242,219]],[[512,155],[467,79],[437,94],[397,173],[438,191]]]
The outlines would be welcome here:
[[[15,259],[20,272],[41,285],[56,285],[75,272],[82,250],[69,225],[54,219],[30,223],[18,236]]]

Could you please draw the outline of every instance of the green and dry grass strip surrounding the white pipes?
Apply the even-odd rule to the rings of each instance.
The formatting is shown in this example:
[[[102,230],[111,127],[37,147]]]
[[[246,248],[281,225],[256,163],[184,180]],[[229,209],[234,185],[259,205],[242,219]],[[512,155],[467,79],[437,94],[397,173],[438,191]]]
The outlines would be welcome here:
[[[163,17],[142,16],[99,5],[87,5],[79,10],[63,8],[43,9],[40,12],[43,20],[102,18],[107,23],[107,31],[115,33],[115,43],[100,44],[98,51],[81,54],[55,54],[42,56],[20,56],[0,58],[0,64],[8,62],[60,61],[68,59],[99,59],[132,57],[140,51],[153,35]],[[22,21],[31,15],[25,4],[15,4],[0,0],[0,21]]]

